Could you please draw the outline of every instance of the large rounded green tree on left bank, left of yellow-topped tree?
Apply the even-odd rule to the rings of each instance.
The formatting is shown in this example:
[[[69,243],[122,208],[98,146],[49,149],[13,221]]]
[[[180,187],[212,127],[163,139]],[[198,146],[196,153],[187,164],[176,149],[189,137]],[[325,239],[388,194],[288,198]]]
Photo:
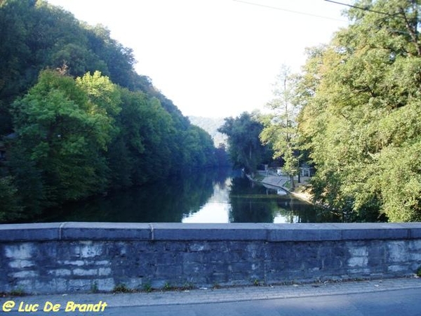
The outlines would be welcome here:
[[[100,152],[112,129],[107,115],[88,102],[71,77],[42,72],[39,83],[13,104],[16,147],[41,171],[50,202],[81,199],[104,190]]]

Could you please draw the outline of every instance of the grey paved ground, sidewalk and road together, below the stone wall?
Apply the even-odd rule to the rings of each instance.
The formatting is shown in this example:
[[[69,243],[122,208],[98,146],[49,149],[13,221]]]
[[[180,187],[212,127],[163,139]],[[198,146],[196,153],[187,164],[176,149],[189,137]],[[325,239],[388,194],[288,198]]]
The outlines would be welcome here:
[[[421,279],[198,289],[138,294],[67,294],[0,299],[0,315],[182,315],[182,316],[377,316],[421,315]],[[10,312],[7,302],[11,303]],[[99,312],[66,312],[69,302]],[[104,305],[107,303],[107,306]],[[36,306],[35,304],[38,304]],[[72,304],[72,303],[71,303]],[[98,305],[99,304],[99,305]],[[36,312],[19,312],[37,309]],[[43,308],[57,312],[44,312]],[[6,310],[4,310],[6,308]]]

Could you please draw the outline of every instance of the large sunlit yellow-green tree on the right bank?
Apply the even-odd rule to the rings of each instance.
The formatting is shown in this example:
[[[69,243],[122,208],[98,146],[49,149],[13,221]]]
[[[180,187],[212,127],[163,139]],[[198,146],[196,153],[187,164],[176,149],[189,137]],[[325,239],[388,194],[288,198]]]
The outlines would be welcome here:
[[[314,197],[352,220],[420,220],[420,8],[368,7],[389,15],[350,9],[352,25],[310,51],[300,81]]]

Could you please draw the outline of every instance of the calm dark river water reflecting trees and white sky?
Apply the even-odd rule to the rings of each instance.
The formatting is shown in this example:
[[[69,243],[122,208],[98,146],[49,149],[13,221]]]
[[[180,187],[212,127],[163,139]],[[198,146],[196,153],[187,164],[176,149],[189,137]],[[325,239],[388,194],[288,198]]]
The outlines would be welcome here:
[[[329,213],[230,170],[202,171],[50,211],[43,221],[328,223]]]

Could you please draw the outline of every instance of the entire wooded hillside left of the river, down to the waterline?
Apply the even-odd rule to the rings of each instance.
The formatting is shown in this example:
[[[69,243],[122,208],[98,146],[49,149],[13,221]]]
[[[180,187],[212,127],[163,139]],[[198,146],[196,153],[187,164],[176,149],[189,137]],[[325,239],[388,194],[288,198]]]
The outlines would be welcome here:
[[[208,133],[105,27],[1,0],[0,42],[0,221],[218,164]]]

